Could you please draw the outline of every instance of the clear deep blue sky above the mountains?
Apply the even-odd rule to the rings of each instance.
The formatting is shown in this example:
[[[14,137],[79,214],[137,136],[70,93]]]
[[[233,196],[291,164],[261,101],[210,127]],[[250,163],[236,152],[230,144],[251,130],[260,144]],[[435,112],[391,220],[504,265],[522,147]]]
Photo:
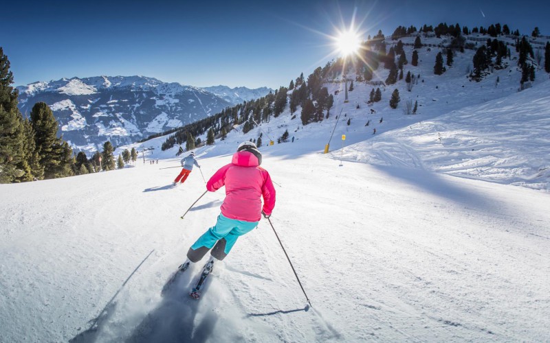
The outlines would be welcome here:
[[[15,85],[145,75],[192,86],[288,86],[333,54],[336,28],[509,25],[550,35],[550,1],[11,1],[0,46]],[[332,54],[331,54],[332,53]]]

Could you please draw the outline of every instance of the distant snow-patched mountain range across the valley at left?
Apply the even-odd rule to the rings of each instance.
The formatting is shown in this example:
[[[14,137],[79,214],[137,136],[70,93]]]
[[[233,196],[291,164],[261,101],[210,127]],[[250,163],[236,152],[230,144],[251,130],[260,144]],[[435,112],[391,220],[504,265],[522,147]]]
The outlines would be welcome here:
[[[63,138],[74,148],[89,152],[101,150],[107,140],[115,146],[132,143],[242,101],[236,96],[220,96],[203,88],[144,76],[63,78],[17,88],[23,114],[28,115],[36,102],[45,102],[54,111]],[[265,87],[239,88],[243,99],[269,91]]]

